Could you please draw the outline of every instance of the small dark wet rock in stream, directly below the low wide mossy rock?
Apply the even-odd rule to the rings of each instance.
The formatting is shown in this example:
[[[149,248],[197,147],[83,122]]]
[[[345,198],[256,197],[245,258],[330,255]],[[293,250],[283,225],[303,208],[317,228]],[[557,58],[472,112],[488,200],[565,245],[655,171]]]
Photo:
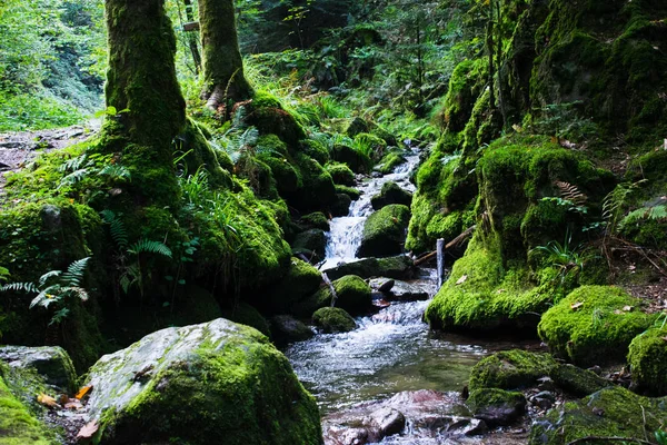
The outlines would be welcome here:
[[[470,393],[468,405],[475,418],[488,426],[507,426],[526,412],[524,394],[497,388],[477,389]]]

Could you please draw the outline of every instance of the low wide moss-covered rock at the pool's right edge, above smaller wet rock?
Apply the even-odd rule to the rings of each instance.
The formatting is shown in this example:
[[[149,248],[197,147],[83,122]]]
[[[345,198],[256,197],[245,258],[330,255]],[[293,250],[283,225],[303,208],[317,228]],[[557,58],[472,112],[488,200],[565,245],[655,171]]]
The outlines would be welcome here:
[[[521,349],[506,350],[482,358],[470,372],[470,392],[482,388],[522,389],[550,375],[558,366],[549,354]]]

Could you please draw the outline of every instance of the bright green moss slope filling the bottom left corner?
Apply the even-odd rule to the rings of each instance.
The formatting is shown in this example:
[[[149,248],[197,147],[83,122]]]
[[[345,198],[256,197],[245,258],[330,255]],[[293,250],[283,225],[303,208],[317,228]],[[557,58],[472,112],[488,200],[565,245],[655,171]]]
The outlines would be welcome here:
[[[4,365],[0,366],[0,370]],[[50,445],[58,443],[42,425],[9,390],[0,373],[0,444]]]

